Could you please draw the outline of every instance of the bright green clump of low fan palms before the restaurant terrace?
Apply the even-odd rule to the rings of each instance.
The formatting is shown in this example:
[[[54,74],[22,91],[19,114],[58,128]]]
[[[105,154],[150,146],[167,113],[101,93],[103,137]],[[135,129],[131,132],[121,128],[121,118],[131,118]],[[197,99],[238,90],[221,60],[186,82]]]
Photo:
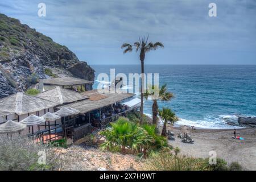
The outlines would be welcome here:
[[[104,150],[119,151],[123,154],[139,154],[146,157],[168,148],[166,138],[155,133],[155,126],[143,125],[141,127],[122,117],[110,125],[112,127],[101,131],[101,135],[106,138],[106,142],[101,144],[101,148]]]

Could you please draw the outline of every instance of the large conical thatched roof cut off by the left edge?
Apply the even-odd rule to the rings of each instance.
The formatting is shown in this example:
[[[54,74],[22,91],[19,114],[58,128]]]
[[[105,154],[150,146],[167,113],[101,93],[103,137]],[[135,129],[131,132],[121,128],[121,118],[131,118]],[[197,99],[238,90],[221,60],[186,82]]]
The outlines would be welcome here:
[[[21,115],[48,109],[56,105],[43,98],[18,92],[0,100],[0,111],[9,111],[10,113]]]

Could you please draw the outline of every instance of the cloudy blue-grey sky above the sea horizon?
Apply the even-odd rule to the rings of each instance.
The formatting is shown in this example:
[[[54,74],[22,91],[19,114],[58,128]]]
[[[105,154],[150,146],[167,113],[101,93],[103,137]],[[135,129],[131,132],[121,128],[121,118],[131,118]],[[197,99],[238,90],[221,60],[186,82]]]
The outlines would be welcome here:
[[[216,17],[208,14],[212,2]],[[145,64],[256,64],[255,0],[5,0],[0,13],[89,64],[140,64],[139,53],[124,55],[121,45],[147,35],[164,48],[148,52]]]

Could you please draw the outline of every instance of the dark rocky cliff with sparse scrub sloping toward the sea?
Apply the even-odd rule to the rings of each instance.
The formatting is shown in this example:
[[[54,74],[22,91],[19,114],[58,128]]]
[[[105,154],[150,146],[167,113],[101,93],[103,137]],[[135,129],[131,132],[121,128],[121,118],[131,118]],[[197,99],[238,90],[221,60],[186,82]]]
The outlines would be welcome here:
[[[94,70],[67,47],[18,19],[0,14],[0,98],[24,91],[38,78],[74,76],[94,80]],[[48,73],[49,75],[49,73]]]

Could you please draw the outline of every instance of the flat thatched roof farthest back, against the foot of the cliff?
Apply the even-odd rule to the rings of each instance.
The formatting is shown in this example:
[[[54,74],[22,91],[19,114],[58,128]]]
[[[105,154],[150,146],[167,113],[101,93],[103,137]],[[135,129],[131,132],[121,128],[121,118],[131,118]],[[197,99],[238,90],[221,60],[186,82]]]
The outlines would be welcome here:
[[[92,84],[93,81],[88,81],[88,80],[75,78],[75,77],[61,77],[61,78],[44,79],[43,83],[46,85],[69,86],[69,85]]]

